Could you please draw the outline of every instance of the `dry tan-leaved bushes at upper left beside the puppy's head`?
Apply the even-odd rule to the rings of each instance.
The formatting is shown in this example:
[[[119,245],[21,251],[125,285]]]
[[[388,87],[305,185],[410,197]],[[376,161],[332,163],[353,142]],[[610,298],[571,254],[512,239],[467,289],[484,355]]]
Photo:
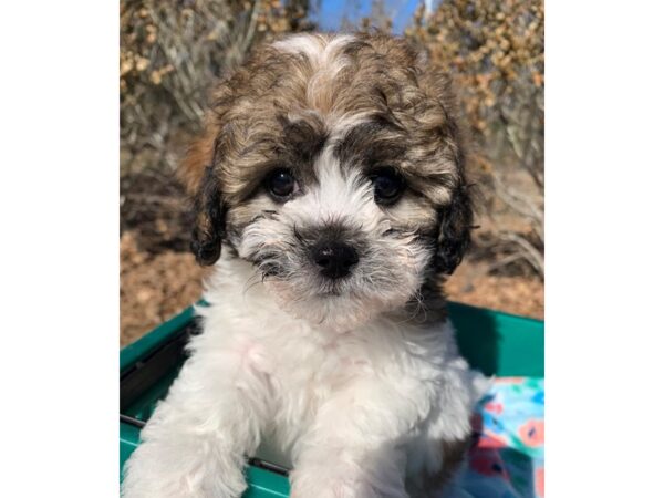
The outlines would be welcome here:
[[[175,169],[210,84],[266,38],[307,28],[307,3],[122,0],[121,173]]]

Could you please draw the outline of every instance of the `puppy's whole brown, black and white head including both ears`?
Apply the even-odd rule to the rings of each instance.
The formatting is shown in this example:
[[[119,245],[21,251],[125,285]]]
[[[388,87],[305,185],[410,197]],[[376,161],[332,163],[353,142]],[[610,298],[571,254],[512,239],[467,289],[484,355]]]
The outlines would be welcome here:
[[[250,261],[289,312],[333,329],[418,299],[469,240],[447,80],[403,41],[298,35],[216,94],[185,174],[193,248]]]

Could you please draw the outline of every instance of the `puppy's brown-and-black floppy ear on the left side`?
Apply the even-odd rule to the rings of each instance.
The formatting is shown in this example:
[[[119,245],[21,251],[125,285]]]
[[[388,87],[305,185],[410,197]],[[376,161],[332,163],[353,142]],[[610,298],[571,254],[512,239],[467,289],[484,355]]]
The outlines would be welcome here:
[[[208,127],[206,135],[194,143],[183,166],[183,178],[194,203],[191,251],[199,264],[214,264],[221,255],[226,208],[217,176],[216,141]]]

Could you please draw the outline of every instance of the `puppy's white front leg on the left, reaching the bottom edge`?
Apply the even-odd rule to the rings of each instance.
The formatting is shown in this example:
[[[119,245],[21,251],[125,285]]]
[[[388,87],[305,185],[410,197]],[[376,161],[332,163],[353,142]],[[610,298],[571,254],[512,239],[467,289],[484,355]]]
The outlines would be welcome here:
[[[241,359],[193,356],[141,434],[123,497],[239,497],[266,411],[264,378]]]

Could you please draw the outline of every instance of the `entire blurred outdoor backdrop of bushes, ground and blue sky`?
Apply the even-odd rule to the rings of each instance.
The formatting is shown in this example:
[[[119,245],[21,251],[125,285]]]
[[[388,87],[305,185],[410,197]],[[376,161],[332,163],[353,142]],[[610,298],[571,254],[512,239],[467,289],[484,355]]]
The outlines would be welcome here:
[[[208,91],[253,45],[380,30],[428,49],[473,133],[480,228],[450,299],[543,318],[544,11],[527,0],[121,0],[121,343],[196,301],[200,269],[174,172]]]

